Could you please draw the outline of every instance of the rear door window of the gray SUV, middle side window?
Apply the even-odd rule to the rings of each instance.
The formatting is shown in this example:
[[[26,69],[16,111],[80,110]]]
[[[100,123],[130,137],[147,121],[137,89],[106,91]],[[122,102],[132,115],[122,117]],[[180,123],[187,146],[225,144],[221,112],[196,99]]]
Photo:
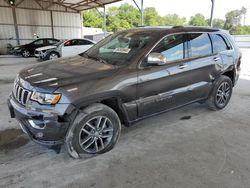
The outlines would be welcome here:
[[[199,57],[212,54],[212,45],[207,33],[189,34],[190,56]]]

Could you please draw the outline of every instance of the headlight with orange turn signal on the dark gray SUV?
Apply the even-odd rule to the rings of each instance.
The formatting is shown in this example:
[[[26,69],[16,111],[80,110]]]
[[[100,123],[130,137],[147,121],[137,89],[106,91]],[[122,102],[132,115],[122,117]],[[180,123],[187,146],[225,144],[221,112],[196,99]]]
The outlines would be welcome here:
[[[47,94],[33,91],[31,95],[31,100],[37,101],[40,104],[57,104],[60,100],[60,97],[61,94]]]

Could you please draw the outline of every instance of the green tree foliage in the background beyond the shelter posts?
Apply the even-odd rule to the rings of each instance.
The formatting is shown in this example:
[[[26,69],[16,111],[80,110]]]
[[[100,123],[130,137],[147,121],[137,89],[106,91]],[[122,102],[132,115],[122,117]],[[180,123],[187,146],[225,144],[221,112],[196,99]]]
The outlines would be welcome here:
[[[215,18],[213,27],[229,30],[231,34],[250,34],[250,26],[242,26],[241,23],[246,15],[247,9],[232,10],[226,13],[225,20]],[[103,28],[102,12],[95,9],[83,11],[83,25],[85,27]],[[243,20],[242,20],[243,19]],[[141,15],[138,9],[128,3],[119,7],[110,7],[107,11],[107,30],[116,32],[127,28],[138,27],[141,24]],[[202,14],[191,16],[189,21],[177,14],[160,16],[154,7],[147,7],[144,10],[144,25],[146,26],[208,26],[209,19]]]

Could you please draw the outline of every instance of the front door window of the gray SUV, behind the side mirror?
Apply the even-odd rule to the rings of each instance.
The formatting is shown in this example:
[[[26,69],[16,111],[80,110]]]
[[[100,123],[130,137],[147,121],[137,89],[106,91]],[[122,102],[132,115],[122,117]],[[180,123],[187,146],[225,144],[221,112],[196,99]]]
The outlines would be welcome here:
[[[167,61],[181,60],[185,58],[185,40],[183,34],[165,37],[152,52],[162,53]]]

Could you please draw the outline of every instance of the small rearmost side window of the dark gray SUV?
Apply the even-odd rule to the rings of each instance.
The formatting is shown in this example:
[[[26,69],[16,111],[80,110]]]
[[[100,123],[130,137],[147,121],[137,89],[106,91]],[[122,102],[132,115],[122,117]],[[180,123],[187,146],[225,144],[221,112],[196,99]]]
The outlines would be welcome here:
[[[229,50],[230,47],[227,45],[225,39],[219,34],[210,34],[214,53]]]

